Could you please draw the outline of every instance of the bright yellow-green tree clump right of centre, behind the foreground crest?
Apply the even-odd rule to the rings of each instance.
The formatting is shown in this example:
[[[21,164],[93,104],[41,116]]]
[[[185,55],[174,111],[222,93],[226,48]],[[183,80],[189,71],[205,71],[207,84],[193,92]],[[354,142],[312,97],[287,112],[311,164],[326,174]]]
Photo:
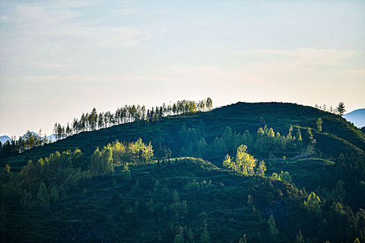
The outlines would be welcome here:
[[[257,161],[254,156],[247,153],[247,146],[238,146],[236,159],[231,158],[229,154],[223,160],[223,166],[232,169],[245,176],[265,176],[266,165],[263,160]]]

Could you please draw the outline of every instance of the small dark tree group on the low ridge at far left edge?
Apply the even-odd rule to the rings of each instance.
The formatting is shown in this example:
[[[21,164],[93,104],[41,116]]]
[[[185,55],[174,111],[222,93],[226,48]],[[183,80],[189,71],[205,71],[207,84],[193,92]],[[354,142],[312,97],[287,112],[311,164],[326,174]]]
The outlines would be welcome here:
[[[13,156],[17,153],[32,149],[35,146],[48,144],[49,142],[51,141],[49,141],[47,135],[42,135],[42,129],[40,129],[38,133],[27,131],[25,135],[19,136],[18,140],[14,136],[11,137],[11,141],[8,140],[4,144],[1,144],[0,142],[0,158]]]

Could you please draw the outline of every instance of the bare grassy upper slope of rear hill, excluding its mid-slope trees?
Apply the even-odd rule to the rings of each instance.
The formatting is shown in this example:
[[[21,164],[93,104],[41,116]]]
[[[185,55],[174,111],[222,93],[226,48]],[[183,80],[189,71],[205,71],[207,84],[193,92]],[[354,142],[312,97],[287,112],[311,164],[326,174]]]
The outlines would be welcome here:
[[[316,131],[316,121],[323,120],[323,131]],[[98,131],[88,131],[72,135],[64,140],[46,144],[35,149],[26,151],[21,156],[6,158],[6,162],[13,167],[24,165],[29,159],[38,160],[40,157],[49,155],[54,151],[65,151],[66,149],[81,149],[86,156],[90,156],[97,146],[104,146],[114,140],[132,141],[141,137],[143,140],[152,141],[152,145],[157,147],[159,143],[167,146],[172,151],[172,156],[199,156],[217,165],[222,161],[225,154],[202,154],[181,153],[184,146],[199,142],[202,138],[213,148],[216,137],[221,137],[225,128],[229,126],[232,132],[243,135],[246,130],[252,137],[256,137],[259,127],[267,125],[273,128],[275,133],[286,135],[291,125],[300,128],[302,132],[303,144],[309,143],[309,136],[306,128],[314,130],[314,137],[317,140],[317,149],[326,158],[338,157],[340,153],[363,153],[365,150],[365,136],[355,126],[347,122],[338,115],[324,112],[309,106],[300,106],[293,103],[236,103],[230,106],[217,108],[211,112],[197,112],[190,115],[177,115],[163,117],[161,121],[145,122],[135,121],[127,124],[102,128]],[[179,133],[183,125],[188,128],[200,130],[200,134],[193,134],[193,137],[181,137]],[[293,131],[295,132],[295,131]],[[187,131],[188,133],[188,131]],[[204,134],[202,134],[204,133]],[[228,149],[230,153],[236,150]],[[257,157],[266,158],[267,153],[257,151],[253,146],[249,146],[249,151]],[[227,152],[227,151],[226,151]],[[277,157],[286,156],[288,158],[298,156],[301,151],[271,151]]]

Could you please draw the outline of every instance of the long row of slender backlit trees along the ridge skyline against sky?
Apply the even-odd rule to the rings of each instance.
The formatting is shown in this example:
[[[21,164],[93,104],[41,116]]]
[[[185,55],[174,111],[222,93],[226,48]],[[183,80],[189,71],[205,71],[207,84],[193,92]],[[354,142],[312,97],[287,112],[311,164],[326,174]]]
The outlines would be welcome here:
[[[206,98],[202,101],[182,100],[177,103],[170,103],[156,108],[146,109],[140,105],[124,106],[117,108],[115,112],[99,112],[96,108],[92,108],[90,113],[83,113],[79,119],[76,117],[72,124],[68,123],[64,126],[57,123],[54,124],[54,134],[57,139],[63,139],[70,135],[83,131],[95,131],[96,129],[107,128],[110,126],[124,124],[132,121],[159,121],[168,115],[181,115],[190,112],[205,112],[213,109],[213,101]]]

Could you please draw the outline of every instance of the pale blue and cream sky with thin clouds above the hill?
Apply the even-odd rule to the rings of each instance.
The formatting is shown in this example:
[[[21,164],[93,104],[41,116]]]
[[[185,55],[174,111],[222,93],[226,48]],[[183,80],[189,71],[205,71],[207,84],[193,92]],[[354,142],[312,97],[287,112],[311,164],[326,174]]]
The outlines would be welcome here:
[[[365,108],[365,1],[0,0],[0,135],[93,107]]]

